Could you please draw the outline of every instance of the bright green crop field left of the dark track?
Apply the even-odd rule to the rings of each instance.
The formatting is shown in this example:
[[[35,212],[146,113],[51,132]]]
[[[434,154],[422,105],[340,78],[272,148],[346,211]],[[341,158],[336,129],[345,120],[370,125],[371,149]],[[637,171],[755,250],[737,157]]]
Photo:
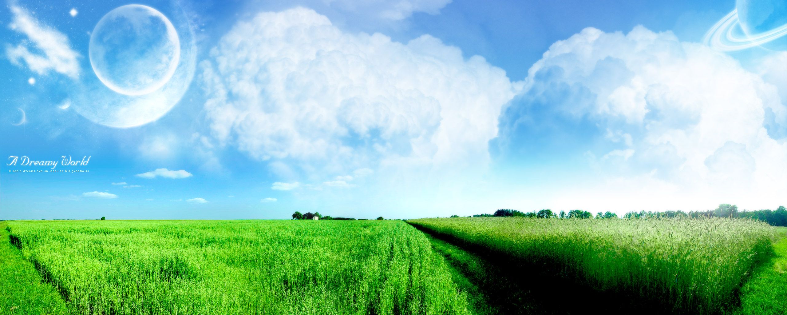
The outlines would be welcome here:
[[[403,221],[8,226],[24,257],[82,314],[468,312],[443,258]],[[17,313],[49,307],[3,299]]]

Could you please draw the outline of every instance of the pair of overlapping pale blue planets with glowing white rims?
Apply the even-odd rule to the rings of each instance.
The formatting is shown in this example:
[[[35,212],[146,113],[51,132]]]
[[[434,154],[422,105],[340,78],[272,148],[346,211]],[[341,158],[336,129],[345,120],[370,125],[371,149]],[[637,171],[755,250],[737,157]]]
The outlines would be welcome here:
[[[194,78],[197,46],[176,4],[164,15],[129,5],[106,13],[91,33],[95,76],[68,86],[69,109],[97,124],[133,128],[164,117]]]

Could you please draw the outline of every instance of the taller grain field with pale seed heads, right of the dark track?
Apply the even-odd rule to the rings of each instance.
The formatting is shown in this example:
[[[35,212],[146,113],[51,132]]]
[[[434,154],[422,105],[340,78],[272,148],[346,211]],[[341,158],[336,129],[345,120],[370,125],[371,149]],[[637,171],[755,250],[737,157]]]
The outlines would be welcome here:
[[[490,217],[408,223],[476,251],[507,257],[530,276],[557,276],[554,281],[582,289],[567,292],[567,298],[595,294],[610,299],[604,311],[623,313],[734,309],[737,291],[759,262],[767,260],[773,237],[767,224],[729,219]],[[578,301],[592,302],[582,296]]]

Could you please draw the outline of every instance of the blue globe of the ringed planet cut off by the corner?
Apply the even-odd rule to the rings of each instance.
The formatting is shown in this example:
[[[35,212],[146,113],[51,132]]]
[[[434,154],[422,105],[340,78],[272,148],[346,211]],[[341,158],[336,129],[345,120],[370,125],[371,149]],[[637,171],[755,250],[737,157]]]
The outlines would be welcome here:
[[[738,23],[748,35],[754,37],[787,25],[785,0],[737,0]],[[760,46],[772,50],[787,50],[787,36],[774,39]]]

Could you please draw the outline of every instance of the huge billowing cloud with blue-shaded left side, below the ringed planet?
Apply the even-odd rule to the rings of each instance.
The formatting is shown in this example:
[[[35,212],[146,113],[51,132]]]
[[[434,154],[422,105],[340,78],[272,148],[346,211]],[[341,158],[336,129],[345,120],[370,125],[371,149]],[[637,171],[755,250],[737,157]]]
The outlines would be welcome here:
[[[671,195],[712,206],[778,202],[787,191],[787,143],[763,125],[769,115],[785,121],[785,103],[726,54],[641,26],[628,34],[586,28],[552,44],[528,73],[495,143],[513,151],[539,128],[566,130],[602,157],[599,198],[637,187],[637,203],[677,200],[663,198]]]

